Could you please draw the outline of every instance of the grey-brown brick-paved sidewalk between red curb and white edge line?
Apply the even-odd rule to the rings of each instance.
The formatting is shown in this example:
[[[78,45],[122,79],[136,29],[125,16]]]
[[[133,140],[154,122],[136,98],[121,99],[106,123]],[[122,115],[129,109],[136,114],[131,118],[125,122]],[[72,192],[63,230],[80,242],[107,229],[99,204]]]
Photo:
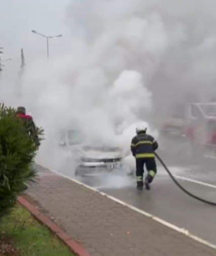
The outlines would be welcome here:
[[[40,168],[27,190],[92,256],[213,256],[216,250]]]

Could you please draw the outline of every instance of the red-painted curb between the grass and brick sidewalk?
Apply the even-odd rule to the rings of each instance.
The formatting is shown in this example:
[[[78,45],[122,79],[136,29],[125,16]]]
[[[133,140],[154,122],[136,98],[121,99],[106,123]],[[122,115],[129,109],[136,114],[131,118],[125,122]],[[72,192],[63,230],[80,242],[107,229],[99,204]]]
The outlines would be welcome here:
[[[72,237],[66,234],[56,224],[54,224],[48,217],[42,214],[33,204],[22,196],[18,196],[17,201],[30,211],[31,215],[40,223],[47,226],[61,241],[63,241],[70,250],[78,256],[91,256],[89,252],[82,248]]]

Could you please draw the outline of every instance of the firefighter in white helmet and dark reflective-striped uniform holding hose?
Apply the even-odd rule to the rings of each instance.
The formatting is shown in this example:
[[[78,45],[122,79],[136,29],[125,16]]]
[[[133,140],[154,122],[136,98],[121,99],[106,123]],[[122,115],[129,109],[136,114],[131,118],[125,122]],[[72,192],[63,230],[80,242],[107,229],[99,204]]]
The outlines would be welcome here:
[[[154,138],[146,134],[147,127],[137,127],[137,135],[132,139],[131,151],[136,158],[136,176],[137,176],[137,189],[142,190],[143,185],[147,190],[150,190],[150,183],[153,181],[157,173],[157,166],[155,162],[154,151],[158,148],[158,143]],[[144,164],[148,174],[143,184]]]

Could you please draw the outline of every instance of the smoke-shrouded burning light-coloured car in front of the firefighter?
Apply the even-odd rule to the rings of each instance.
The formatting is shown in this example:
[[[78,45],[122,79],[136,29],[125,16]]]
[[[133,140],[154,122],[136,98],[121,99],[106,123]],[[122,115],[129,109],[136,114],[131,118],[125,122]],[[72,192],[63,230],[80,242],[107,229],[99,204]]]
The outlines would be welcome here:
[[[92,176],[100,170],[111,172],[122,165],[122,152],[118,147],[89,145],[78,129],[62,131],[59,145],[70,152],[78,176]]]

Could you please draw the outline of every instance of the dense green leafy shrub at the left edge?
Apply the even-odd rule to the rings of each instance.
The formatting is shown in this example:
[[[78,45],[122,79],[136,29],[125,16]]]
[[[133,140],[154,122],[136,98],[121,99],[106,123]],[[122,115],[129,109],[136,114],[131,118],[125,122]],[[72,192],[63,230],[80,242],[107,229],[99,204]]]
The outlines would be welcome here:
[[[43,131],[37,128],[37,132],[41,135]],[[0,217],[14,205],[26,184],[35,182],[36,151],[16,110],[0,104]]]

